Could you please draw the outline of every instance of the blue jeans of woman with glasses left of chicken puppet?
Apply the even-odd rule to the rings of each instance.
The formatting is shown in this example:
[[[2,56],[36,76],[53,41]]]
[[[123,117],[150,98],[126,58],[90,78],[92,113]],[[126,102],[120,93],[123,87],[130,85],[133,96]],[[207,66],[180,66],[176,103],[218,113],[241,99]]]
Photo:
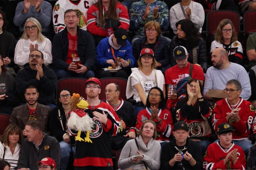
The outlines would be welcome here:
[[[75,155],[76,147],[71,147],[68,143],[63,140],[59,142],[60,146],[60,170],[66,170],[69,163],[69,156],[71,151]]]

